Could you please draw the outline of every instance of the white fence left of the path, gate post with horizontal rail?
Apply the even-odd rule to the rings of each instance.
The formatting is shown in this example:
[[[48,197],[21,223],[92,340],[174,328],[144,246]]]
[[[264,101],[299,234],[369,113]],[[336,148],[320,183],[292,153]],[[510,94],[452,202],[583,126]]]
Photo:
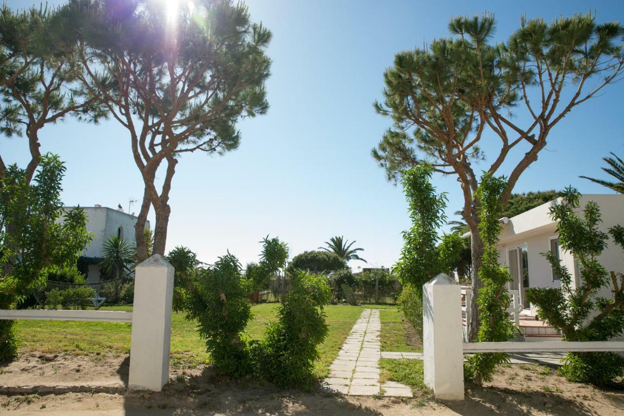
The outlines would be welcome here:
[[[0,309],[0,319],[132,322],[128,386],[159,392],[169,381],[173,271],[160,254],[139,264],[132,312]]]

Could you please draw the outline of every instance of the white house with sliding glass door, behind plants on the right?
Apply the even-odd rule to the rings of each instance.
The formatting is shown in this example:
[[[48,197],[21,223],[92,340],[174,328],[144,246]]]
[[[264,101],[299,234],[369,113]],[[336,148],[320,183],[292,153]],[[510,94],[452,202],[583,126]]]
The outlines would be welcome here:
[[[563,251],[559,246],[557,223],[552,221],[548,213],[552,205],[560,203],[557,198],[532,210],[525,211],[512,218],[503,218],[499,249],[499,263],[509,267],[514,281],[509,289],[519,290],[520,301],[528,307],[524,299],[527,288],[558,288],[560,281],[555,279],[552,268],[541,253],[552,251],[561,259],[572,274],[573,288],[580,282],[578,264],[572,253]],[[587,201],[594,201],[600,206],[602,224],[600,230],[607,232],[613,225],[624,225],[624,195],[583,195],[577,213],[581,213]],[[609,271],[624,272],[624,252],[610,238],[607,247],[598,261]],[[608,295],[607,288],[604,294]]]

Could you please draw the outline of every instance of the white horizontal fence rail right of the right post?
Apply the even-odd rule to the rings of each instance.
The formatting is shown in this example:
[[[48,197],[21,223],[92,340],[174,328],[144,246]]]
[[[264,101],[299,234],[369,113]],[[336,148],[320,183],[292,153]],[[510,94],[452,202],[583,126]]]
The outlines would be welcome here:
[[[624,351],[624,341],[464,342],[466,352]]]

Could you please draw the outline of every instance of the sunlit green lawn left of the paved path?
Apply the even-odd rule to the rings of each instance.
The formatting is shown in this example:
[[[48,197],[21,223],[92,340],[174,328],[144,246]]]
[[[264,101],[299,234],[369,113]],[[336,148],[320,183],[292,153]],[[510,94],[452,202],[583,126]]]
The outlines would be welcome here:
[[[265,303],[251,307],[253,320],[246,332],[251,339],[260,339],[266,324],[275,321],[279,304]],[[360,306],[325,307],[329,334],[319,346],[319,359],[314,374],[325,377],[329,365],[351,327],[362,312]],[[102,307],[107,311],[132,311],[132,306]],[[126,322],[80,322],[80,321],[16,321],[17,334],[21,340],[21,352],[41,351],[46,354],[90,355],[99,352],[119,356],[130,352],[132,327]],[[177,367],[195,367],[208,362],[210,356],[197,335],[195,323],[184,319],[181,313],[172,316],[171,363]]]

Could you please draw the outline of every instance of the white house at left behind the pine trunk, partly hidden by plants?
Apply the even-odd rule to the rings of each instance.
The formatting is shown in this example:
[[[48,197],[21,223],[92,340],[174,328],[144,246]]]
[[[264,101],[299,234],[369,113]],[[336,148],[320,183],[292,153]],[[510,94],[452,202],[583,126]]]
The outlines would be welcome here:
[[[64,206],[65,211],[72,210],[74,206]],[[97,266],[99,258],[102,257],[102,249],[105,241],[112,235],[123,237],[129,244],[135,244],[134,225],[137,217],[125,213],[122,208],[114,210],[106,206],[83,206],[81,207],[87,215],[87,231],[92,233],[91,244],[80,253],[81,258],[92,259],[88,263],[87,281],[94,282],[100,279],[100,268]],[[145,223],[150,227],[149,221]]]

